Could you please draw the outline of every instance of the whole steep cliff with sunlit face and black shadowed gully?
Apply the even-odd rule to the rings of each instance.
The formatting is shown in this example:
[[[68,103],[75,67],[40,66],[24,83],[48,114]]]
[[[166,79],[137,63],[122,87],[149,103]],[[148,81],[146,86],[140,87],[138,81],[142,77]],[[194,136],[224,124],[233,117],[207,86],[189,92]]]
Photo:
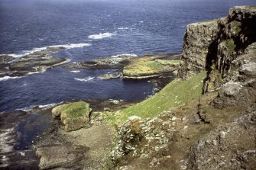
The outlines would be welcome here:
[[[187,79],[206,70],[205,91],[222,85],[232,61],[256,41],[256,7],[234,7],[227,18],[190,24],[184,37],[179,76]]]

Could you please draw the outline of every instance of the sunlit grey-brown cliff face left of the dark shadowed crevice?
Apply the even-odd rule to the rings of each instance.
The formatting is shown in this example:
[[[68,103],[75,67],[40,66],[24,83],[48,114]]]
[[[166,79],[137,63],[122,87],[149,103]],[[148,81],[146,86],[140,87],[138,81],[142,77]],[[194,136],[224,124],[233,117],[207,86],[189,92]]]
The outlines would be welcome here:
[[[206,56],[212,53],[212,43],[218,33],[218,20],[189,24],[186,27],[178,73],[180,78],[187,79],[205,70]]]

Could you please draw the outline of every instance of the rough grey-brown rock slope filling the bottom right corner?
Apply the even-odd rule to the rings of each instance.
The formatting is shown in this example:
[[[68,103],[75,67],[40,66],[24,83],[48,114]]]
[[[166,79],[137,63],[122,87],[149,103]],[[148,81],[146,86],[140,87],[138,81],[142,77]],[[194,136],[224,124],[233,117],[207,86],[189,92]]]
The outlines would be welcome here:
[[[190,151],[187,169],[254,169],[256,111],[210,132]]]

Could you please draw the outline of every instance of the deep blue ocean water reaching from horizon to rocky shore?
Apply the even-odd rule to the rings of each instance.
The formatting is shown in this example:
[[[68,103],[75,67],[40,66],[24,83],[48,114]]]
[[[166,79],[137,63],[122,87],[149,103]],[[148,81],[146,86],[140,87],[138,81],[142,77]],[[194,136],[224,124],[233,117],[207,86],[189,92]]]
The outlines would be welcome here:
[[[71,62],[122,53],[180,53],[186,25],[228,14],[254,0],[0,0],[0,54],[89,43],[54,56]],[[102,33],[101,36],[97,35]],[[93,36],[95,35],[95,36]],[[0,82],[0,111],[87,98],[141,100],[147,81],[101,80],[110,70],[70,72],[57,67]]]

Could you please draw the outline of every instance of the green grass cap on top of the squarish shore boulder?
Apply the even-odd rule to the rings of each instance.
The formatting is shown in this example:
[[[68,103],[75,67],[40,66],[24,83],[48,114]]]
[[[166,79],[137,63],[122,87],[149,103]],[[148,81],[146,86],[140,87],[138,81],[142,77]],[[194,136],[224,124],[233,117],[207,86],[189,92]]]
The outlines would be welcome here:
[[[66,104],[61,108],[61,113],[66,114],[67,119],[85,116],[89,111],[89,104],[84,101]]]

